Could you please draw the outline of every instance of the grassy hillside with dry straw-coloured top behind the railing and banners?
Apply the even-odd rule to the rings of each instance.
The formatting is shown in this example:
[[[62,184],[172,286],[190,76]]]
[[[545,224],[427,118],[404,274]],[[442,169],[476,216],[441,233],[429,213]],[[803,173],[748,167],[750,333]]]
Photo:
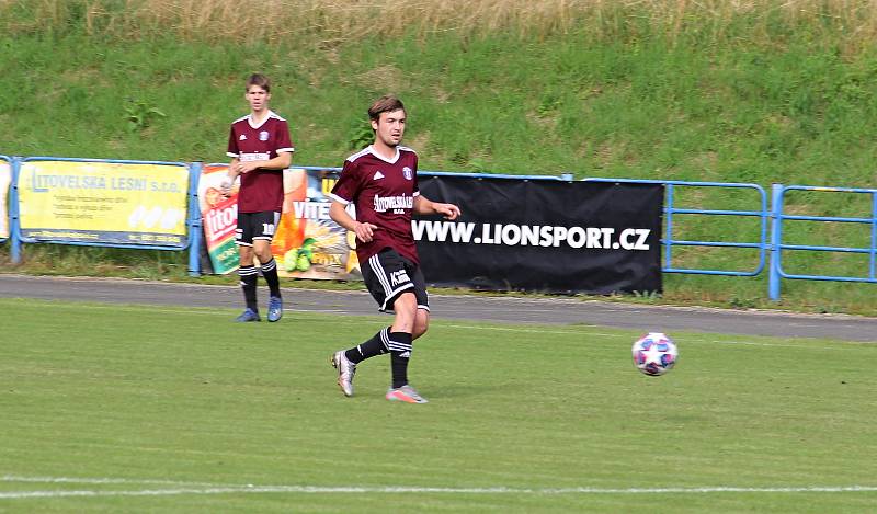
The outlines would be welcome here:
[[[242,80],[263,71],[275,83],[274,110],[292,122],[299,164],[339,165],[363,142],[368,102],[394,92],[409,107],[408,144],[425,170],[877,185],[869,2],[236,5],[0,0],[0,153],[224,161],[228,124],[247,108]],[[790,203],[812,214],[869,214],[845,197]],[[709,224],[690,229],[753,238],[747,224]],[[852,245],[840,231],[819,237]],[[752,255],[681,259],[742,260],[745,269]],[[861,262],[836,260],[848,274],[866,273]],[[751,306],[762,304],[766,282],[670,276],[667,289],[669,299]],[[855,310],[870,304],[869,293],[788,283],[784,296]]]

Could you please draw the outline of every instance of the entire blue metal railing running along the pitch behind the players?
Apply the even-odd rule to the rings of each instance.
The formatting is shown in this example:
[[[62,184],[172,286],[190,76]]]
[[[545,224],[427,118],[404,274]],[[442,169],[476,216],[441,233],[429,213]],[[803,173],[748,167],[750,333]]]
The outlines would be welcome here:
[[[187,191],[187,217],[186,217],[186,241],[182,247],[160,247],[160,245],[140,245],[140,244],[109,244],[109,243],[91,243],[91,242],[67,242],[67,241],[45,241],[58,242],[61,244],[78,244],[78,245],[101,245],[101,247],[116,247],[116,248],[138,248],[138,249],[155,249],[155,250],[184,250],[189,249],[189,273],[190,275],[197,276],[201,274],[200,266],[200,250],[201,250],[201,232],[202,219],[201,209],[198,207],[197,184],[203,170],[201,162],[182,163],[182,162],[162,162],[162,161],[126,161],[126,160],[105,160],[105,159],[71,159],[71,158],[49,158],[49,157],[5,157],[0,156],[0,160],[7,161],[11,169],[11,184],[9,187],[9,233],[10,233],[10,254],[13,263],[21,262],[21,244],[22,242],[43,242],[32,239],[23,239],[21,235],[21,220],[20,220],[20,202],[19,202],[19,178],[21,173],[21,165],[24,162],[37,160],[50,161],[79,161],[79,162],[106,162],[106,163],[128,163],[128,164],[159,164],[159,165],[182,165],[189,170],[189,191]],[[305,170],[312,171],[340,171],[340,168],[330,167],[296,167]],[[566,181],[571,182],[572,175],[562,174],[560,176],[550,175],[513,175],[513,174],[488,174],[488,173],[455,173],[446,171],[425,171],[419,172],[422,176],[468,176],[477,179],[506,179],[506,180],[534,180],[534,181]],[[686,182],[686,181],[661,181],[661,180],[633,180],[633,179],[601,179],[590,178],[584,181],[591,182],[614,182],[614,183],[646,183],[646,184],[661,184],[664,186],[664,222],[663,222],[663,237],[661,243],[663,244],[663,263],[662,272],[664,273],[684,273],[684,274],[703,274],[703,275],[731,275],[731,276],[756,276],[760,275],[770,259],[768,276],[768,293],[772,300],[779,299],[781,282],[783,278],[791,279],[812,279],[812,281],[836,281],[836,282],[859,282],[859,283],[877,283],[877,190],[872,189],[850,189],[850,187],[816,187],[790,185],[784,186],[782,184],[774,184],[772,190],[771,206],[768,208],[768,198],[764,189],[758,184],[748,183],[721,183],[721,182]],[[676,193],[679,191],[690,191],[692,187],[719,187],[719,189],[733,189],[752,191],[754,195],[752,201],[745,201],[748,205],[758,205],[756,208],[750,210],[738,209],[724,209],[724,208],[686,208],[676,205]],[[785,195],[789,191],[819,191],[819,192],[834,192],[834,193],[852,193],[870,195],[870,217],[839,217],[839,216],[800,216],[784,213]],[[744,242],[731,241],[714,241],[714,240],[698,240],[694,238],[675,239],[679,237],[677,217],[680,216],[733,216],[741,218],[755,218],[759,220],[760,230],[758,240]],[[771,224],[768,225],[768,220]],[[840,224],[857,224],[867,225],[870,229],[870,245],[865,248],[851,248],[851,247],[829,247],[829,245],[807,245],[807,244],[790,244],[783,242],[784,221],[812,221],[812,222],[840,222]],[[684,231],[684,230],[683,230]],[[754,263],[752,269],[749,270],[726,270],[726,269],[693,269],[693,267],[676,267],[673,265],[674,249],[680,247],[711,247],[711,248],[738,248],[751,249],[758,251],[758,262]],[[868,256],[867,273],[862,276],[834,276],[834,275],[808,275],[808,274],[794,274],[788,273],[783,269],[783,254],[784,252],[843,252],[852,254],[865,254]]]

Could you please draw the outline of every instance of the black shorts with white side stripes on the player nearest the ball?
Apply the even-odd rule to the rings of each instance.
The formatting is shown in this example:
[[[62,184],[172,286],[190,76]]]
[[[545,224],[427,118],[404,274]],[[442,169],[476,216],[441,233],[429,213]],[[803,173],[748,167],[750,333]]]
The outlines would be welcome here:
[[[380,310],[392,310],[392,304],[402,293],[412,292],[418,309],[430,310],[426,281],[420,266],[399,255],[396,250],[385,249],[367,262],[360,263],[363,281],[368,293],[380,306]]]

